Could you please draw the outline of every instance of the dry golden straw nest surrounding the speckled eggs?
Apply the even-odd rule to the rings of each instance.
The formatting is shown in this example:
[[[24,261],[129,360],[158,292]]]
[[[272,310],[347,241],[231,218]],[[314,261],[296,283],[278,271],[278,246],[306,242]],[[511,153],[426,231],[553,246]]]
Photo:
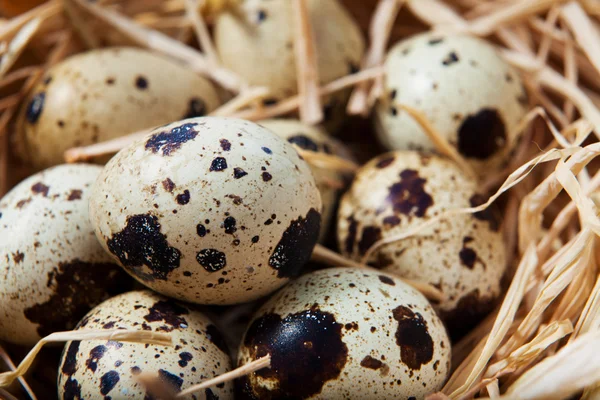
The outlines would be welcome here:
[[[290,1],[297,14],[299,95],[269,106],[259,101],[267,94],[264,88],[245,86],[214,56],[207,9],[218,10],[227,1],[50,0],[29,11],[25,9],[35,1],[16,2],[22,10],[3,1],[6,15],[16,16],[0,25],[0,194],[30,173],[13,158],[9,146],[15,115],[28,90],[49,67],[88,48],[134,45],[183,62],[233,94],[215,115],[258,120],[298,111],[305,122],[318,123],[321,96],[348,87],[353,88],[348,112],[368,115],[382,91],[381,63],[390,43],[427,30],[483,37],[498,47],[525,82],[531,102],[522,124],[527,140],[505,170],[482,183],[490,193],[486,204],[450,213],[473,213],[499,201],[505,216],[506,290],[498,307],[454,346],[451,377],[430,398],[600,396],[600,219],[594,201],[600,186],[600,5],[592,0],[344,0],[369,39],[369,48],[361,71],[319,86],[305,3]],[[207,12],[198,12],[200,8]],[[412,115],[441,153],[468,168],[418,112]],[[365,133],[369,124],[353,118],[351,125],[358,128],[350,128],[354,133],[348,142],[361,149],[359,159],[366,160],[373,153],[364,150],[372,148],[365,143],[374,140]],[[124,134],[129,135],[72,149],[67,159],[114,152],[144,132]],[[313,162],[346,171],[356,168],[335,158],[313,156]],[[375,243],[369,254],[383,244]],[[325,250],[317,258],[345,262]],[[9,354],[20,358],[23,353],[7,350],[1,354],[6,367],[14,369]],[[28,366],[31,359],[25,363]],[[36,369],[35,379],[41,381],[37,387],[45,381],[45,393],[53,393],[52,368],[42,360]],[[0,396],[11,398],[1,390]]]

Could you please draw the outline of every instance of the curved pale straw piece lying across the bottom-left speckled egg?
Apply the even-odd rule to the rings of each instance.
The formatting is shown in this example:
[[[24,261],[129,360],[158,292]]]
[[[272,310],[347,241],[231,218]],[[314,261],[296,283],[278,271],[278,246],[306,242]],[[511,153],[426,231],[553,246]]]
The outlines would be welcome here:
[[[33,346],[33,348],[29,351],[29,353],[27,353],[25,358],[23,358],[23,361],[21,361],[19,366],[14,371],[1,373],[0,387],[9,386],[15,379],[23,376],[29,367],[31,367],[35,357],[40,350],[42,350],[44,345],[55,342],[68,342],[71,340],[114,340],[120,342],[156,344],[160,346],[171,346],[173,344],[170,334],[151,331],[113,329],[55,332],[40,339],[40,341]]]

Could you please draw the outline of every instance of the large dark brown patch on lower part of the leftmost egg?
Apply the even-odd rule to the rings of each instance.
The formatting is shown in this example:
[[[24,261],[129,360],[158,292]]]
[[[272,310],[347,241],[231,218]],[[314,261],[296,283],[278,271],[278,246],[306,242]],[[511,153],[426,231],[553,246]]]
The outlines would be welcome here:
[[[42,337],[72,329],[92,307],[130,290],[132,281],[114,264],[76,259],[49,272],[47,286],[52,296],[24,311],[29,321],[38,324],[37,333]]]

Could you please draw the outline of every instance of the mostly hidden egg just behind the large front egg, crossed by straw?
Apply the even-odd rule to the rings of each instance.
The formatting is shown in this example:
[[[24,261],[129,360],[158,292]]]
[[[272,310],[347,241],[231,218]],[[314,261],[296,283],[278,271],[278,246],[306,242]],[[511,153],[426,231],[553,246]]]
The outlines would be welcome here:
[[[327,136],[321,128],[292,119],[269,119],[260,121],[259,124],[301,149],[349,158],[350,153],[344,148],[343,144]],[[322,242],[326,239],[337,206],[339,188],[335,185],[338,183],[343,184],[345,176],[329,168],[311,165],[311,170],[323,201],[320,235],[320,241]]]

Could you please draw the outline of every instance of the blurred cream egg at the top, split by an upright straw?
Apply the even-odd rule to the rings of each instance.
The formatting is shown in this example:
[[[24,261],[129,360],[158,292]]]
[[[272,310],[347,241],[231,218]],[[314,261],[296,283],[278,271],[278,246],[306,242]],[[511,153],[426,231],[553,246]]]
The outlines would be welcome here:
[[[309,0],[322,84],[356,72],[365,43],[359,26],[338,0]],[[273,100],[298,93],[294,11],[288,0],[244,0],[215,21],[215,45],[224,66],[251,85],[271,89]],[[343,114],[347,92],[324,99],[325,120]],[[271,100],[271,99],[269,99]]]

